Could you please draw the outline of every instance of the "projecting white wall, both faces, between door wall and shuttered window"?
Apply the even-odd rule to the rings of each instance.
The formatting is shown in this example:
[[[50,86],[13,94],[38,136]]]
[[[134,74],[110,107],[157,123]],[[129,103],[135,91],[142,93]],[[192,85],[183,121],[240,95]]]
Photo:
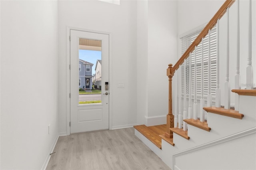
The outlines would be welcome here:
[[[166,123],[166,69],[169,63],[176,61],[177,56],[176,7],[176,1],[138,1],[138,124],[152,126]]]

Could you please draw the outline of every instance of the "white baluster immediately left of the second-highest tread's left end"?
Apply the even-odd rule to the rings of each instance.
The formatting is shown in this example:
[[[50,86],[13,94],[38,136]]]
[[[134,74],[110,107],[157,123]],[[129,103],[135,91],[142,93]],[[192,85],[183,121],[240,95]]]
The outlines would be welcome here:
[[[200,121],[204,122],[204,38],[202,38]]]

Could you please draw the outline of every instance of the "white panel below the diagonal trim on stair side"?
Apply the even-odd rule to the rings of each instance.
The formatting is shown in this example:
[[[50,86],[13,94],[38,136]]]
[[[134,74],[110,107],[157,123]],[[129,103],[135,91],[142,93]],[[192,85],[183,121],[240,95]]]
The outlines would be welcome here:
[[[172,169],[256,169],[255,140],[256,127],[175,153]]]

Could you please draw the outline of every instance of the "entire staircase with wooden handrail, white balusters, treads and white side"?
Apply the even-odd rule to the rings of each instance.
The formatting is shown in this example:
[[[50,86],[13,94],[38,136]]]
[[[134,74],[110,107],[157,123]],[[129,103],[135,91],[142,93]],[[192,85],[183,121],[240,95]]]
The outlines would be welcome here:
[[[155,147],[150,142],[156,137],[149,138],[139,126],[135,127],[136,136],[172,170],[256,169],[256,90],[253,87],[252,67],[252,1],[242,3],[248,4],[247,10],[240,10],[239,0],[226,0],[177,63],[174,66],[168,65],[169,109],[166,116],[166,132],[160,134],[162,138],[160,147]],[[230,9],[236,10],[237,15],[230,16]],[[249,17],[243,18],[246,15],[240,15],[240,11],[248,12]],[[224,19],[226,23],[225,26],[221,25],[221,30],[220,24],[224,23],[222,18],[226,18]],[[234,18],[237,22],[235,46],[230,43],[233,31],[230,31],[232,28],[230,29],[229,26],[229,20],[234,21]],[[244,45],[240,42],[240,20],[248,20],[248,45],[246,45],[248,57],[240,51],[240,47]],[[215,26],[217,73],[216,84],[212,86],[211,77],[215,75],[212,75],[211,69],[208,67],[206,72],[204,69],[199,72],[196,69],[198,65],[201,68],[206,64],[211,65],[210,45],[208,63],[204,61],[203,55],[196,55],[196,51],[205,50],[202,48],[205,46],[203,43],[210,44],[210,30]],[[224,40],[219,36],[223,28],[226,29],[227,36]],[[226,41],[225,56],[222,52],[223,47],[220,47],[223,41]],[[199,49],[200,47],[202,49]],[[236,56],[230,55],[231,49],[236,50]],[[247,60],[247,65],[240,66],[240,63],[244,63],[242,61],[244,59]],[[202,63],[195,62],[198,60]],[[223,60],[226,62],[224,68],[220,67],[223,65]],[[191,61],[194,61],[193,66]],[[236,62],[235,65],[230,64],[233,61]],[[236,74],[230,74],[231,67],[235,67]],[[208,75],[207,80],[204,78],[205,74]],[[201,77],[200,82],[198,77]],[[246,83],[243,83],[246,84],[245,89],[241,88],[241,77],[242,79],[246,77]],[[222,79],[225,79],[225,82],[222,83]],[[208,82],[207,94],[204,94],[204,82]],[[198,85],[200,88],[197,88]],[[234,88],[233,90],[230,89],[230,85]],[[216,92],[214,95],[212,95],[213,90]],[[230,105],[233,105],[232,101],[234,101],[234,107],[230,109]],[[153,127],[148,128],[151,128],[151,132],[144,130],[148,135],[155,133],[152,131]]]

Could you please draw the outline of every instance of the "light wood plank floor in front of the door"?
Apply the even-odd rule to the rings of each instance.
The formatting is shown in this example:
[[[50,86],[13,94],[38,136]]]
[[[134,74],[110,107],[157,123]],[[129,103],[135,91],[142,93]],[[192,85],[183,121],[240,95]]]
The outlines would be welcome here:
[[[60,136],[46,170],[170,170],[134,128]]]

